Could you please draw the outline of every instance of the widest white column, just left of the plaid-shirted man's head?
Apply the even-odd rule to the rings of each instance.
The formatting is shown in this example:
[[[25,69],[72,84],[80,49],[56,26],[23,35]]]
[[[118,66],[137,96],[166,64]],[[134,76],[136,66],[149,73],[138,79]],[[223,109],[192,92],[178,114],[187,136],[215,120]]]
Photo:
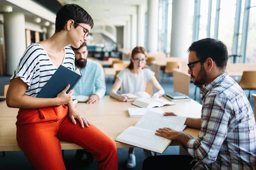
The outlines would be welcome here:
[[[171,57],[188,56],[187,49],[189,23],[189,3],[187,0],[172,0],[172,33],[171,33]]]

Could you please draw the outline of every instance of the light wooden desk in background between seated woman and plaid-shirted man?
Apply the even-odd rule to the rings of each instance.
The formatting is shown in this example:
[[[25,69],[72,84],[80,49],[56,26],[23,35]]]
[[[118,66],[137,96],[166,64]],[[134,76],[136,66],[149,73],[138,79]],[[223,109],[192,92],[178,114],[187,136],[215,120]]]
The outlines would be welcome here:
[[[188,59],[180,58],[180,57],[169,57],[169,58],[156,59],[156,61],[152,64],[152,71],[155,72],[155,77],[158,82],[160,82],[160,70],[165,69],[167,62],[178,62],[179,66],[181,66],[183,62],[187,63]]]

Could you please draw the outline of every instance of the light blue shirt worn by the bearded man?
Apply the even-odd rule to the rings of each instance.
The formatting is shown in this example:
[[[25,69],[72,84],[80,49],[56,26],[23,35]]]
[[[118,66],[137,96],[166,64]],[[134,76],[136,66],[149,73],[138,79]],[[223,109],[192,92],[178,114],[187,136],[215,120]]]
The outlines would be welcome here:
[[[75,69],[76,70],[76,69]],[[81,69],[82,78],[73,89],[75,96],[96,94],[102,99],[106,93],[105,74],[99,62],[87,59],[85,68]]]

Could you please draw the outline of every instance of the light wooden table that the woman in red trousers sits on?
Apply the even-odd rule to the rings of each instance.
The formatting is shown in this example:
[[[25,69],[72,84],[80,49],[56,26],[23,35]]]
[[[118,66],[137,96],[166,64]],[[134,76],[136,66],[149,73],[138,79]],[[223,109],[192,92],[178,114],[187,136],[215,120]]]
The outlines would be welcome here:
[[[16,141],[16,116],[18,109],[8,108],[6,102],[0,102],[0,151],[20,150]],[[113,141],[116,137],[130,126],[134,126],[140,118],[130,118],[127,108],[136,108],[131,102],[119,102],[110,96],[105,96],[99,103],[89,105],[78,103],[76,110],[82,116],[88,118],[91,123],[107,134]],[[175,112],[178,116],[201,117],[201,108],[193,99],[188,102],[175,102],[175,105],[162,107],[164,111]],[[186,128],[184,132],[197,137],[200,130]],[[81,149],[80,146],[60,141],[63,150]],[[172,145],[179,145],[172,142]],[[116,142],[116,147],[131,147],[128,144]]]

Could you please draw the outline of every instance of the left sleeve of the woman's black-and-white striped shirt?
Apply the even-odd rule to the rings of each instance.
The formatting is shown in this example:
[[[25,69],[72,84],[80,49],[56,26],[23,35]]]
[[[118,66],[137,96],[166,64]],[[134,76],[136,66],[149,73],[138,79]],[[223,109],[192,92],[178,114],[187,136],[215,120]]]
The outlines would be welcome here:
[[[29,45],[20,59],[17,68],[14,71],[10,81],[17,77],[23,80],[29,87],[31,86],[32,77],[37,69],[39,69],[39,57],[45,55],[44,50],[38,44]]]

